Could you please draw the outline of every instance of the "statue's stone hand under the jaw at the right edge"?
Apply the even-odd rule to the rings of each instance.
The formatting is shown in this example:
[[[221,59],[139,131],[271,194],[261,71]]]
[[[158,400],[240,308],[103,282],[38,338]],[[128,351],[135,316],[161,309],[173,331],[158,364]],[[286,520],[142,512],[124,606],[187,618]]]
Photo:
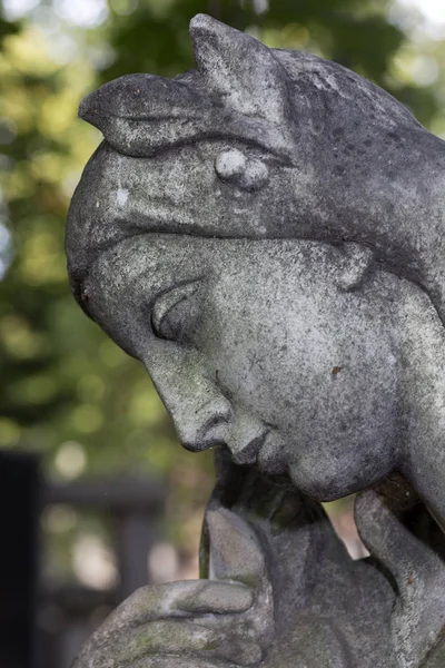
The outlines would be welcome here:
[[[396,583],[390,618],[396,655],[407,668],[443,666],[445,539],[441,528],[398,477],[363,492],[356,519],[366,547]]]

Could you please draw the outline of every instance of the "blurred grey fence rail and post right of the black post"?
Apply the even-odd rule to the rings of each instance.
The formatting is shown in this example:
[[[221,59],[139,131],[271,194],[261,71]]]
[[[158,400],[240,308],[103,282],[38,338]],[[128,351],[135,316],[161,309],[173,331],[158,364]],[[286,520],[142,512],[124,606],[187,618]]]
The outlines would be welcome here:
[[[41,592],[39,668],[69,668],[81,645],[127,596],[149,583],[148,554],[159,538],[166,487],[148,477],[47,485],[43,503],[106,511],[113,525],[119,582],[97,591],[55,586]],[[3,664],[0,662],[0,668]],[[8,666],[9,668],[9,666]]]

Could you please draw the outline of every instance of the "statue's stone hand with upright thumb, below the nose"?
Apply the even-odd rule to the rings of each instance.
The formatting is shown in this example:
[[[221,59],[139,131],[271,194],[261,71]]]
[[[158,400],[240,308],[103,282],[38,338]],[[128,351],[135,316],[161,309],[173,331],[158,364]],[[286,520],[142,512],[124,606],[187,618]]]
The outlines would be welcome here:
[[[260,544],[228,510],[207,517],[219,580],[144,587],[105,621],[73,668],[231,668],[261,660],[273,630]]]

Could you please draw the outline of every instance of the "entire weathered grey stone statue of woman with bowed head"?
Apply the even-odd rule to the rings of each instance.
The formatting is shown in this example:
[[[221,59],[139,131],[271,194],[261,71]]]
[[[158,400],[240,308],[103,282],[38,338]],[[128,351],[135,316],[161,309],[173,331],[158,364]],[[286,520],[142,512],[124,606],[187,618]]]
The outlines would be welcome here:
[[[102,86],[69,213],[86,313],[215,448],[202,579],[76,668],[445,666],[445,145],[359,76],[209,17]],[[320,501],[360,492],[353,561]]]

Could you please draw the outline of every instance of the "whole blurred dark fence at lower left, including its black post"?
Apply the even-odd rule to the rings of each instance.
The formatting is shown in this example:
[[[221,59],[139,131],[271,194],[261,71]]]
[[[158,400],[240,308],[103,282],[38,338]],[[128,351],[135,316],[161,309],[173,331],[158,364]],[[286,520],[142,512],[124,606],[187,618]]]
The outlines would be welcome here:
[[[109,514],[118,557],[117,584],[43,586],[39,518],[47,505]],[[69,668],[108,612],[149,582],[148,556],[158,540],[165,489],[158,480],[113,478],[46,484],[37,458],[0,453],[0,666]]]

